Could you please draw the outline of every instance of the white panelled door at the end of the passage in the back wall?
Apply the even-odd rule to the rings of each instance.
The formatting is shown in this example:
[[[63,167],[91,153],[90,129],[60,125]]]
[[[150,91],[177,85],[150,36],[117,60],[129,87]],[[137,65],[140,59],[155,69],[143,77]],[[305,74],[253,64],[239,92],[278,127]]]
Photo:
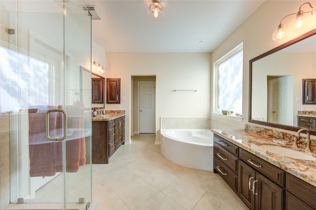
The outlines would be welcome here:
[[[156,83],[139,82],[139,133],[155,133]]]

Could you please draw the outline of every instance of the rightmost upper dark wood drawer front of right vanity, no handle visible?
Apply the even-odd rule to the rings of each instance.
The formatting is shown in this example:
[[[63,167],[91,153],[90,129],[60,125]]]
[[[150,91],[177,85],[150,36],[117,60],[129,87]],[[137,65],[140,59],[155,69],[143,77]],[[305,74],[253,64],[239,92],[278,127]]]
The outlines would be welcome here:
[[[316,209],[316,187],[287,173],[285,189],[305,204]]]

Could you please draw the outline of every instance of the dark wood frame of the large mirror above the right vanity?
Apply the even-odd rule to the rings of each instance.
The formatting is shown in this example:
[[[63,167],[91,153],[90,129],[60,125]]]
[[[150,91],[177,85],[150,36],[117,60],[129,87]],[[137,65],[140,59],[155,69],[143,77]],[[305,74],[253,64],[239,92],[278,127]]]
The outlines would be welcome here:
[[[275,53],[276,51],[279,51],[285,47],[288,47],[292,44],[295,44],[305,38],[308,38],[310,36],[313,36],[313,35],[316,35],[316,29],[310,31],[310,32],[307,32],[303,35],[300,35],[298,36],[297,38],[294,38],[288,42],[285,42],[284,44],[281,44],[279,46],[277,46],[276,48],[272,49],[272,50],[269,50],[268,52],[265,52],[263,53],[262,55],[259,55],[253,59],[251,59],[249,61],[249,106],[248,106],[248,122],[250,123],[255,123],[255,124],[260,124],[260,125],[265,125],[265,126],[270,126],[270,127],[275,127],[275,128],[280,128],[280,129],[284,129],[284,130],[290,130],[290,131],[298,131],[300,128],[299,127],[295,127],[295,126],[288,126],[288,125],[281,125],[281,124],[276,124],[276,123],[270,123],[270,122],[264,122],[264,121],[259,121],[259,120],[253,120],[251,119],[251,101],[252,101],[252,63],[261,59],[261,58],[264,58],[268,55],[271,55],[273,53]],[[310,133],[312,135],[316,135],[316,130],[311,130],[311,129],[308,129],[310,131]]]

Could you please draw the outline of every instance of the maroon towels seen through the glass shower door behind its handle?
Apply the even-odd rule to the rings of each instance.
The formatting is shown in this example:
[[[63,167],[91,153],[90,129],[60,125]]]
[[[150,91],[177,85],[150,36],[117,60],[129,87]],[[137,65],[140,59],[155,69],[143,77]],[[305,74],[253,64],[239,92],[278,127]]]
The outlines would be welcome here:
[[[79,136],[82,137],[75,140],[64,140],[66,141],[66,172],[78,172],[79,166],[84,165],[86,161],[83,133],[84,109],[81,105],[66,106],[66,112],[68,128],[81,132]],[[49,114],[52,137],[55,136],[55,131],[63,127],[62,117],[60,112]],[[45,113],[29,113],[29,127],[30,176],[52,176],[56,172],[62,172],[64,141],[46,139]]]

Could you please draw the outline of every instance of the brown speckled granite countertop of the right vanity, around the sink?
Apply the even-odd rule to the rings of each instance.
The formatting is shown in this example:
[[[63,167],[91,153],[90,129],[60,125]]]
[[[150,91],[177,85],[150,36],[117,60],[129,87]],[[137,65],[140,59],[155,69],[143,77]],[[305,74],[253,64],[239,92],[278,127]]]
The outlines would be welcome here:
[[[276,167],[284,170],[285,172],[294,175],[311,185],[316,187],[316,161],[312,160],[301,160],[285,156],[280,156],[268,150],[262,149],[259,146],[263,144],[276,145],[286,148],[291,148],[304,153],[307,153],[316,158],[315,149],[312,148],[313,152],[305,151],[303,148],[297,149],[293,148],[293,142],[288,142],[287,144],[279,144],[273,141],[273,137],[262,136],[260,134],[255,134],[248,132],[246,130],[219,130],[212,129],[214,134],[228,140],[240,148],[260,157],[261,159],[275,165]],[[304,147],[305,148],[305,147]]]

